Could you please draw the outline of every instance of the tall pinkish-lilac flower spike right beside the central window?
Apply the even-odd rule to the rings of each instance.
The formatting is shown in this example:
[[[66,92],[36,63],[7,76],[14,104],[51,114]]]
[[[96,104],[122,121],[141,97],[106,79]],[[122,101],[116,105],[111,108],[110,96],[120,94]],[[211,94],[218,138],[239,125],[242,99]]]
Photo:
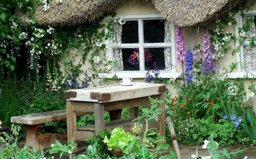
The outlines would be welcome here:
[[[176,49],[177,49],[177,65],[182,65],[185,62],[185,45],[184,45],[184,35],[183,28],[176,27],[175,30],[176,37]]]

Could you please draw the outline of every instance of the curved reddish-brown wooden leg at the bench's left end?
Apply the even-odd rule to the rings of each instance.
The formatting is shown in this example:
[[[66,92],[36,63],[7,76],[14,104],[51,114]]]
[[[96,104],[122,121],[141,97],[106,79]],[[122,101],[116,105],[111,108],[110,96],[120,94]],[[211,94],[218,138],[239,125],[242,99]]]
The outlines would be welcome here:
[[[40,145],[38,141],[38,136],[39,136],[39,130],[42,126],[42,124],[36,124],[36,125],[28,125],[24,124],[26,128],[26,145],[28,147],[35,148],[36,151],[41,151],[40,150]]]

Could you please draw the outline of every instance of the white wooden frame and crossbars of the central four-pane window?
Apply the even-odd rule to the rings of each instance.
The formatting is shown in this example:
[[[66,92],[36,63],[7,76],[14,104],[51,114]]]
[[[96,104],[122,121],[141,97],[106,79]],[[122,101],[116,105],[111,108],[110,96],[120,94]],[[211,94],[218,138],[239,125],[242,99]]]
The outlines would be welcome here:
[[[106,45],[109,46],[108,47],[108,54],[106,54],[109,57],[110,61],[113,61],[113,48],[139,48],[139,50],[143,50],[143,48],[145,46],[154,46],[155,47],[171,47],[171,62],[172,64],[176,65],[176,46],[175,46],[175,26],[174,24],[171,24],[171,42],[166,42],[165,44],[163,43],[155,43],[155,44],[146,44],[143,43],[143,23],[142,20],[145,19],[162,19],[162,15],[161,14],[141,14],[141,15],[118,15],[117,18],[114,19],[118,19],[118,18],[122,18],[123,20],[138,20],[139,22],[139,43],[138,44],[133,44],[133,46],[131,46],[131,44],[121,44],[119,46],[113,46],[110,43],[110,40],[106,40]],[[112,16],[107,16],[105,18],[105,22],[107,20],[112,19]],[[146,78],[146,70],[144,68],[144,54],[139,54],[139,69],[140,70],[144,70],[144,71],[115,71],[112,70],[112,72],[110,74],[99,74],[100,77],[104,76],[106,78],[112,78],[114,75],[117,75],[118,78],[133,78],[133,79],[141,79],[141,78]],[[111,66],[109,66],[109,69],[111,68]],[[176,68],[172,67],[172,70],[160,70],[160,74],[158,77],[161,78],[178,78],[181,75],[180,72],[176,72]]]

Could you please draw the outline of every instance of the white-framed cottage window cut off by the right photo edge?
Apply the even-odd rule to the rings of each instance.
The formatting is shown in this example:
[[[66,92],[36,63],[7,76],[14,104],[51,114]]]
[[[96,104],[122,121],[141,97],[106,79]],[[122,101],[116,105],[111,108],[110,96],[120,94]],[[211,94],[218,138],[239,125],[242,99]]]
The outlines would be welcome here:
[[[249,32],[238,31],[238,28],[242,28],[243,25],[246,25],[246,20],[249,18],[253,19]],[[237,71],[240,73],[231,73],[229,74],[229,78],[242,78],[246,72],[250,72],[248,76],[249,78],[252,78],[253,76],[256,76],[256,46],[254,45],[253,48],[250,48],[250,39],[255,37],[256,34],[256,10],[253,10],[250,13],[244,11],[244,16],[241,16],[241,12],[238,12],[236,20],[238,24],[238,27],[236,28],[236,36],[242,37],[244,42],[240,51],[237,52],[237,62],[241,63],[241,65],[238,65]],[[238,41],[236,46],[240,46]]]

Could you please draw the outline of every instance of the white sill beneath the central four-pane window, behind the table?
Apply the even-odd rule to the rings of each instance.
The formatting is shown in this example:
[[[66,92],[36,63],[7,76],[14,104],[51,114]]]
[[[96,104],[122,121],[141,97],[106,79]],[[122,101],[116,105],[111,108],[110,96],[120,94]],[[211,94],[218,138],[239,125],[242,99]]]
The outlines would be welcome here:
[[[107,79],[112,79],[115,75],[115,72],[112,72],[110,74],[99,74],[100,77],[105,76]],[[138,72],[138,71],[122,71],[122,72],[116,72],[116,75],[119,79],[122,78],[132,78],[132,79],[144,79],[146,78],[146,72]],[[151,73],[151,75],[153,75]],[[179,78],[181,76],[180,72],[160,72],[158,75],[160,78]]]

